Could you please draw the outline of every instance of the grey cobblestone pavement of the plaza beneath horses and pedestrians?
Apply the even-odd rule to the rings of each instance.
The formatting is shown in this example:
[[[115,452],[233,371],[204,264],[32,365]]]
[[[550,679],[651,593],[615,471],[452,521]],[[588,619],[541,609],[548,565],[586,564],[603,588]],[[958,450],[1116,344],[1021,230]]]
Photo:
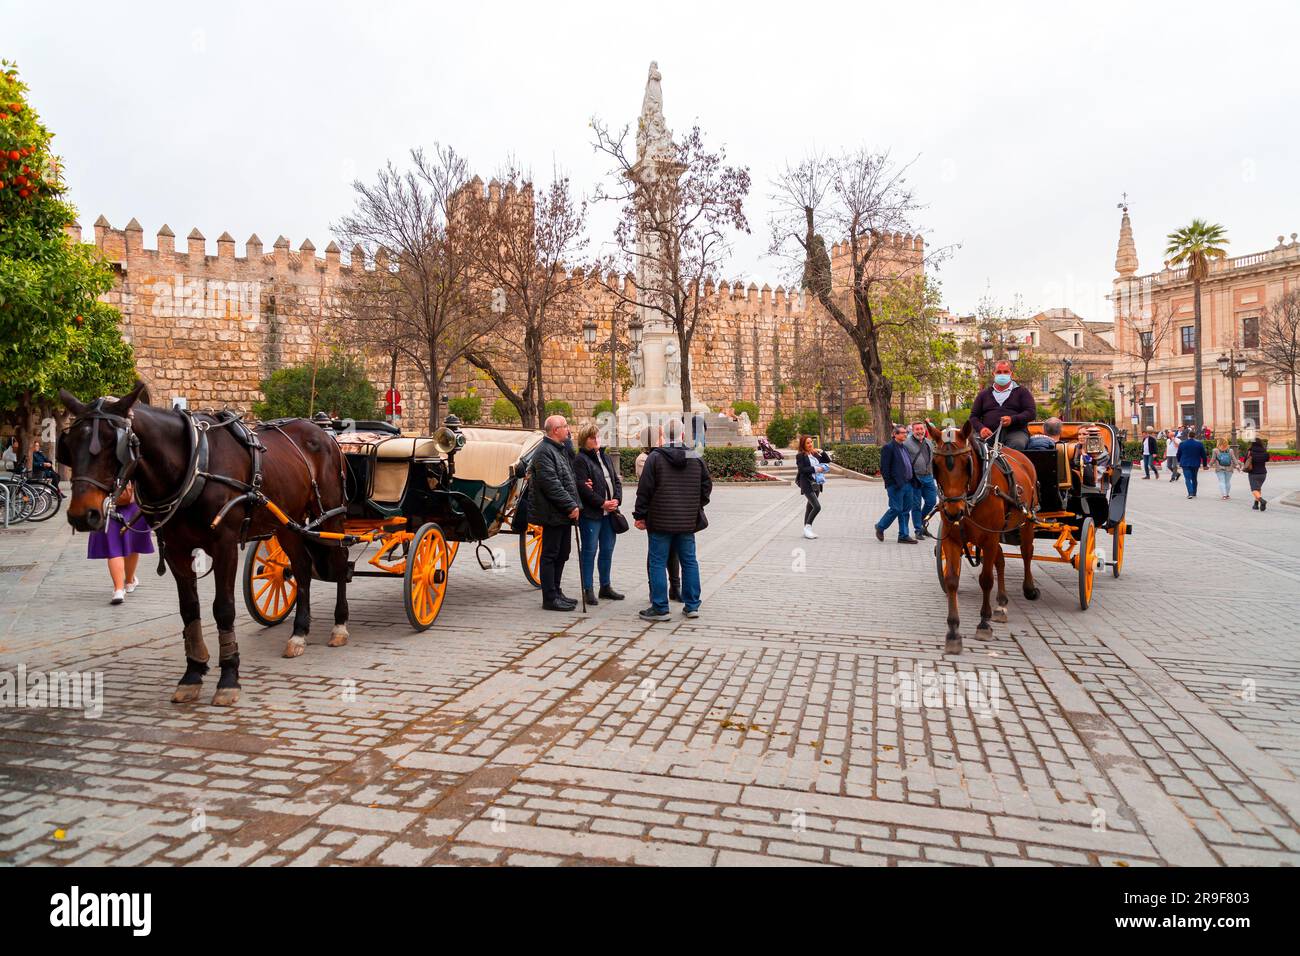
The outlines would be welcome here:
[[[1206,484],[1134,481],[1124,574],[1087,613],[1070,568],[1028,604],[1009,564],[1010,624],[976,643],[967,570],[959,658],[931,549],[875,541],[881,486],[837,479],[816,541],[792,488],[718,489],[697,620],[636,618],[637,532],[628,600],[585,618],[469,549],[424,633],[398,580],[352,587],[338,649],[317,589],[291,661],[289,626],[240,610],[234,709],[168,702],[179,618],[152,562],[109,607],[61,519],[0,531],[0,672],[103,676],[99,714],[0,710],[0,861],[1296,864],[1300,509]],[[1269,479],[1296,488],[1300,467]]]

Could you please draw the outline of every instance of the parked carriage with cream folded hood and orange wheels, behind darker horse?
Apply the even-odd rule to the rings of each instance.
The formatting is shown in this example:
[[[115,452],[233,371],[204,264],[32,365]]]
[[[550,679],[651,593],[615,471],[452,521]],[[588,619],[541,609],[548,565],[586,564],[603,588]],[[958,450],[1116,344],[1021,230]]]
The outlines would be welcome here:
[[[541,432],[462,428],[454,418],[432,437],[343,431],[337,421],[324,427],[335,432],[343,450],[347,511],[342,532],[316,532],[316,537],[364,545],[358,557],[348,555],[348,579],[400,575],[407,619],[424,631],[442,609],[463,542],[476,542],[480,567],[503,567],[502,551],[485,541],[514,533],[511,518]],[[519,557],[524,576],[541,587],[540,527],[528,525],[519,535]],[[363,559],[365,566],[359,567]],[[285,620],[296,592],[276,535],[251,541],[243,593],[254,620],[264,626]]]

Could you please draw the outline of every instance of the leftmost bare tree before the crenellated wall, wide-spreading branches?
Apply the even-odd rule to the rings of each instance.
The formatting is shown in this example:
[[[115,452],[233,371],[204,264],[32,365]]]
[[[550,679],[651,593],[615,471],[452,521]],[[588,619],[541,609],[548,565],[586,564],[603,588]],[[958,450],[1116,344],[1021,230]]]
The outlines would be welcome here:
[[[451,221],[451,200],[467,179],[451,147],[411,151],[411,168],[391,163],[376,182],[354,182],[356,208],[334,225],[354,246],[354,278],[334,311],[352,345],[410,362],[429,392],[429,429],[441,420],[442,386],[497,320],[472,281],[472,237]],[[356,248],[374,268],[355,261]]]

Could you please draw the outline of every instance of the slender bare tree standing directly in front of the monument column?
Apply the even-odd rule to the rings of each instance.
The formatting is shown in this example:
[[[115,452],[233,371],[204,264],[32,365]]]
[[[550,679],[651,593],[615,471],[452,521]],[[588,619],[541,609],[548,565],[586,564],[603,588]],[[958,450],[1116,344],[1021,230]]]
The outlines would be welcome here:
[[[644,287],[634,291],[611,284],[608,291],[625,306],[645,306],[672,323],[681,362],[681,407],[690,411],[690,342],[702,319],[718,304],[706,295],[716,285],[731,254],[731,230],[748,233],[745,196],[750,177],[745,166],[725,165],[725,151],[710,152],[698,126],[672,143],[659,160],[667,176],[640,174],[640,157],[628,151],[629,127],[615,131],[592,120],[595,148],[614,163],[611,191],[599,199],[621,203],[615,243],[625,271],[638,263]]]

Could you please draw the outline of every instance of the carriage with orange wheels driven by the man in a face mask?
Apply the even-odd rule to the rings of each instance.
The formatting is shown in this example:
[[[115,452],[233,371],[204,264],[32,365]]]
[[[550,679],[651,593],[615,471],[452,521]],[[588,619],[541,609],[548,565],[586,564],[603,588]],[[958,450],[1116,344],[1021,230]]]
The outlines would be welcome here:
[[[1030,434],[1043,434],[1043,423],[1031,423]],[[1018,548],[1024,528],[1032,527],[1034,537],[1052,541],[1054,551],[1034,553],[1032,559],[1074,567],[1079,607],[1087,610],[1096,574],[1109,567],[1118,578],[1123,570],[1124,538],[1132,531],[1124,519],[1132,463],[1123,460],[1123,445],[1110,425],[1086,421],[1063,423],[1053,447],[1031,447],[1020,454],[1034,466],[1037,496],[1031,522],[1000,529],[1004,553],[1019,557],[1017,550],[1005,550],[1005,546]],[[1110,536],[1109,548],[1100,541],[1101,533]],[[978,567],[983,557],[980,548],[968,540],[962,545],[967,562]],[[940,538],[935,544],[940,584],[948,571],[944,551]]]

